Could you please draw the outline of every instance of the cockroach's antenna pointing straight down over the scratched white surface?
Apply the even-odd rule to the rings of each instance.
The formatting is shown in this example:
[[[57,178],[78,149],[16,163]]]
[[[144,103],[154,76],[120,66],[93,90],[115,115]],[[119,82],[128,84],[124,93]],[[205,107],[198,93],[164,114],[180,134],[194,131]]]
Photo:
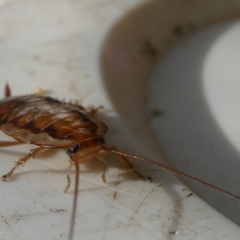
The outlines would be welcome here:
[[[75,167],[76,167],[76,173],[75,173],[73,208],[72,208],[71,222],[70,222],[70,229],[69,229],[69,236],[68,236],[69,240],[73,240],[76,210],[77,210],[78,186],[79,186],[79,164],[76,161],[74,161],[74,163],[75,163]]]

